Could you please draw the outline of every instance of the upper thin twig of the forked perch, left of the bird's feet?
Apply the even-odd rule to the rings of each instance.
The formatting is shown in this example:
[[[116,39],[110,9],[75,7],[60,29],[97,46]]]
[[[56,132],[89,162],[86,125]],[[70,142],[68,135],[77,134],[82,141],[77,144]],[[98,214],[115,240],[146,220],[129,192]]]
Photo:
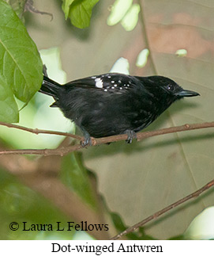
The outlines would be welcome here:
[[[17,124],[9,124],[9,123],[4,123],[4,122],[0,122],[0,125],[6,126],[8,128],[16,128],[19,130],[23,130],[26,132],[32,132],[36,135],[38,135],[39,133],[46,133],[46,134],[53,134],[53,135],[58,135],[58,136],[67,136],[67,137],[71,137],[73,139],[83,139],[81,136],[77,136],[74,134],[71,134],[69,132],[55,132],[55,131],[48,131],[48,130],[40,130],[40,129],[32,129],[32,128],[27,128],[21,125],[17,125]]]

